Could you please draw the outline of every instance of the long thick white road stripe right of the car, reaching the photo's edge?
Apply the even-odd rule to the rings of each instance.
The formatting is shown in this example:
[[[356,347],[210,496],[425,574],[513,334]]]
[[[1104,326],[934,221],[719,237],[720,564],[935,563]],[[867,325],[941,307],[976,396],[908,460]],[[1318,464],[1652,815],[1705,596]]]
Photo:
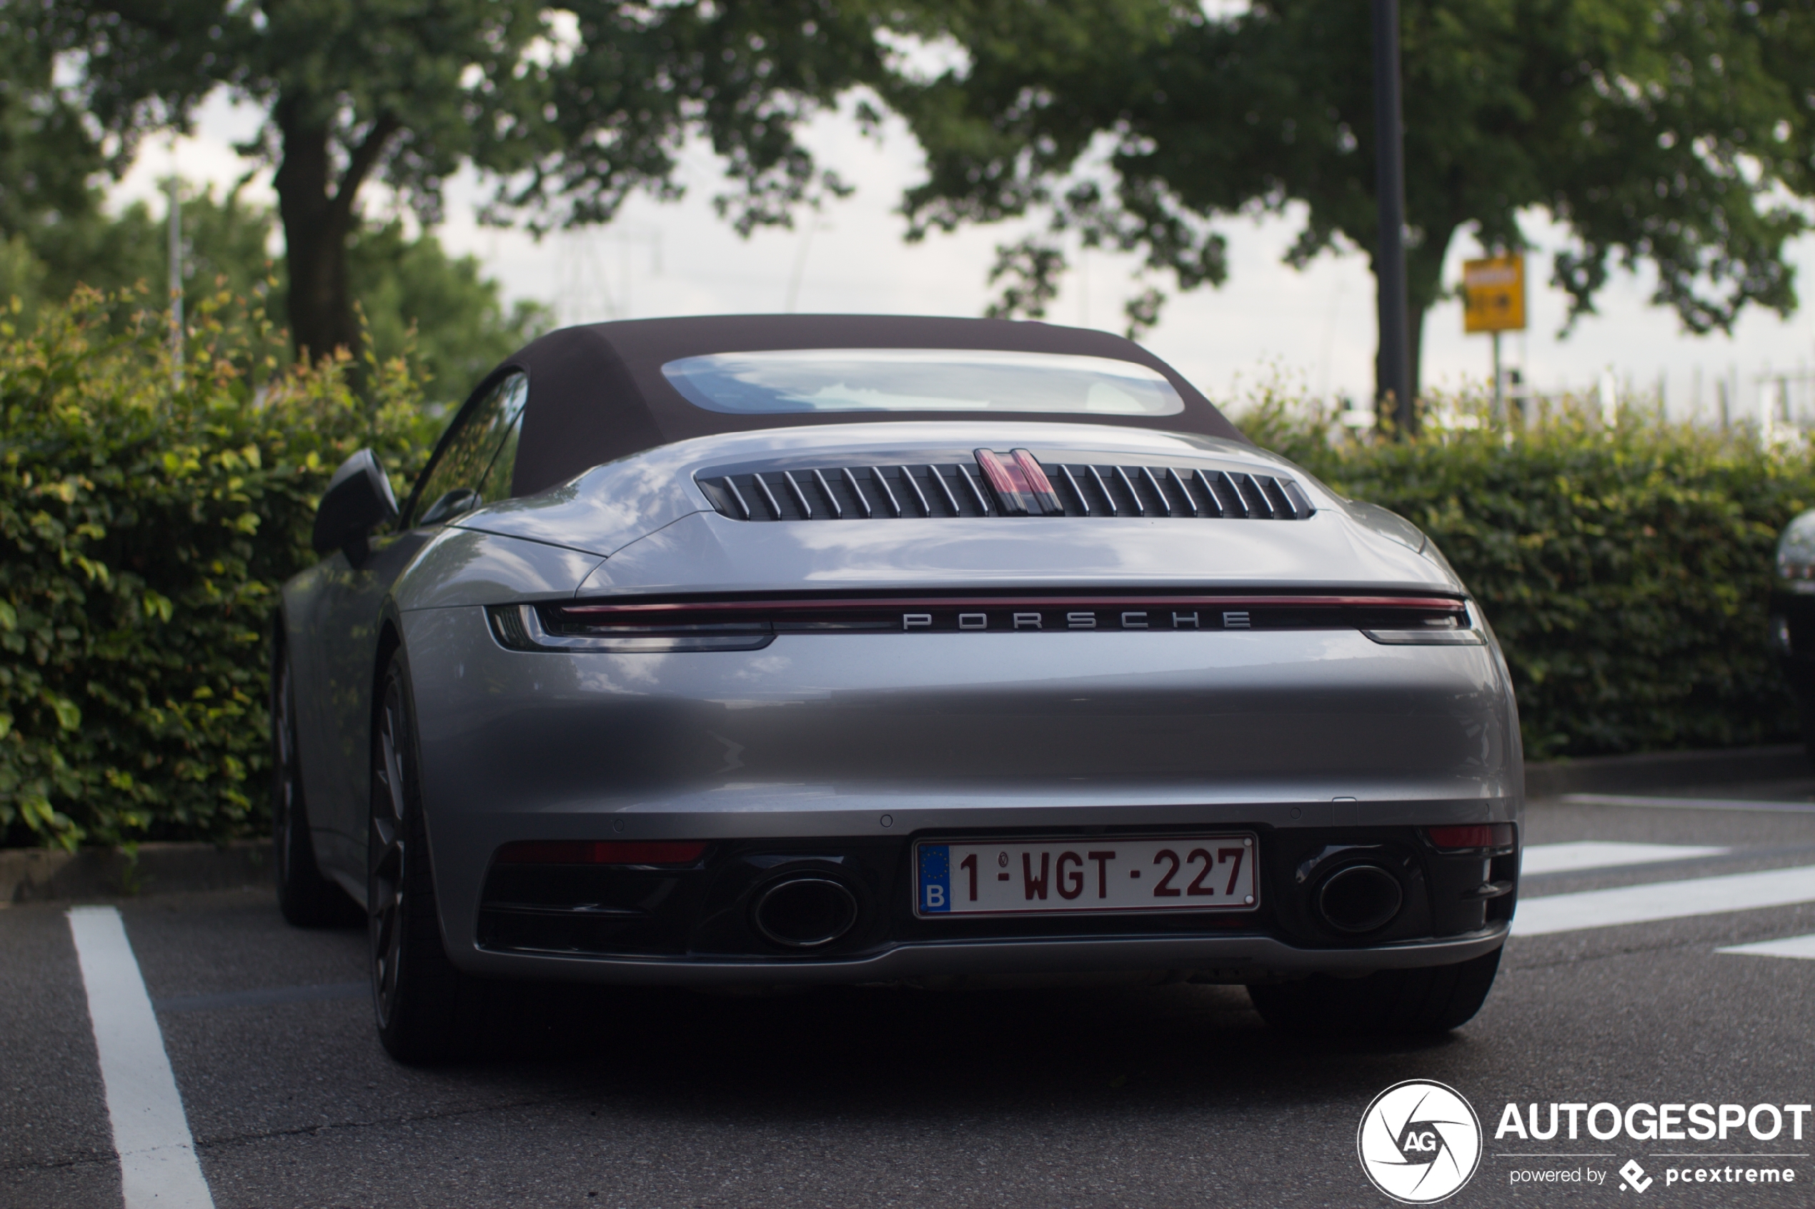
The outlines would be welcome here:
[[[1793,903],[1815,903],[1815,866],[1768,868],[1757,874],[1657,881],[1646,886],[1519,899],[1512,933],[1548,935],[1688,915],[1750,912]]]

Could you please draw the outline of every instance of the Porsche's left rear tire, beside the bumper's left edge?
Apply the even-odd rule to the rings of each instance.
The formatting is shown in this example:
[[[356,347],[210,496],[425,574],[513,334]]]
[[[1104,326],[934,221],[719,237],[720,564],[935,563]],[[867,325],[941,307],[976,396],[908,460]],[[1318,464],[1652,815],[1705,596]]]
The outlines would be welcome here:
[[[412,1066],[472,1053],[486,999],[485,982],[456,970],[441,943],[414,721],[399,651],[379,682],[372,727],[367,923],[378,1039]]]

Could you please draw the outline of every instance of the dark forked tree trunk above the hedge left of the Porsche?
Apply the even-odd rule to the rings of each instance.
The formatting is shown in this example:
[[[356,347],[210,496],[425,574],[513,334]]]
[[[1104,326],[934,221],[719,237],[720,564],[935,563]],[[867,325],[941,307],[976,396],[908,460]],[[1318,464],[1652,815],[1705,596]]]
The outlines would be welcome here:
[[[350,149],[336,181],[329,127],[305,116],[310,112],[316,107],[296,98],[278,102],[274,118],[283,136],[283,163],[272,185],[290,270],[290,343],[298,357],[321,359],[338,348],[359,352],[359,324],[347,285],[347,241],[359,221],[354,207],[359,185],[397,127],[390,118],[374,121],[365,141]]]

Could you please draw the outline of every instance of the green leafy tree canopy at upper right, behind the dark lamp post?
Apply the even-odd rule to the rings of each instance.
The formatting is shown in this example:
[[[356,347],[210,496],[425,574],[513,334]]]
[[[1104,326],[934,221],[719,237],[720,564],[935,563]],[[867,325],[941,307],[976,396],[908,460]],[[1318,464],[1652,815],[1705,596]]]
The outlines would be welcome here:
[[[1211,18],[1169,0],[967,0],[946,31],[966,67],[891,92],[929,154],[906,208],[917,234],[1044,216],[996,270],[1022,310],[1056,290],[1067,232],[1142,250],[1183,290],[1225,277],[1218,216],[1303,203],[1294,266],[1372,248],[1365,4]],[[1784,243],[1804,219],[1786,198],[1815,192],[1811,51],[1800,0],[1405,0],[1414,392],[1456,234],[1519,248],[1526,208],[1574,237],[1552,266],[1572,323],[1610,265],[1641,263],[1695,334],[1751,303],[1793,310]],[[1133,330],[1162,297],[1131,301]]]

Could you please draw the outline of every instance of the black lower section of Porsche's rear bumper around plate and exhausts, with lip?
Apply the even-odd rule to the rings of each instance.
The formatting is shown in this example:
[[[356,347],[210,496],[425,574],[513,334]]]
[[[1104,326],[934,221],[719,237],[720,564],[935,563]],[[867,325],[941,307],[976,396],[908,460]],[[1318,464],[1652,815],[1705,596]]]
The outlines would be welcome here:
[[[1227,836],[1238,828],[1189,830]],[[922,915],[913,908],[911,836],[721,839],[682,866],[492,865],[474,943],[450,948],[457,964],[479,975],[601,982],[888,982],[1105,972],[1252,982],[1467,961],[1505,939],[1512,919],[1514,845],[1437,850],[1416,827],[1240,832],[1258,845],[1258,901],[1187,912]],[[1042,837],[1060,834],[1038,828]],[[1145,836],[1189,841],[1172,828]],[[1142,837],[1127,827],[1069,832],[1080,850],[1118,848]],[[1015,846],[1013,837],[971,839]],[[1114,859],[1114,852],[1105,856]],[[1320,890],[1354,866],[1385,874],[1398,886],[1390,919],[1365,924],[1359,933],[1332,924],[1320,906]],[[813,952],[790,950],[759,921],[766,892],[800,879],[839,883],[855,906],[855,923]]]

